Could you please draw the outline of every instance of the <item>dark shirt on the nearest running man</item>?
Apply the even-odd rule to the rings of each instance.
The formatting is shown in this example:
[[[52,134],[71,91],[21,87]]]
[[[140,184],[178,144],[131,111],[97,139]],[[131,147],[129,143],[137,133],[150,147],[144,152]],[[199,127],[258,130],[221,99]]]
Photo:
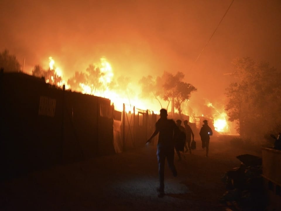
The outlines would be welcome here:
[[[155,124],[156,130],[159,131],[158,147],[174,147],[173,135],[177,130],[177,125],[171,119],[159,119]]]

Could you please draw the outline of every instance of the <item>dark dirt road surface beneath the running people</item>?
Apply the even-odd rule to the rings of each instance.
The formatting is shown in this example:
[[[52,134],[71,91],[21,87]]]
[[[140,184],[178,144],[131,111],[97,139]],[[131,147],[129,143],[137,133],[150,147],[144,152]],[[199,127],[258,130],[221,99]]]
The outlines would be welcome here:
[[[166,164],[163,198],[156,193],[156,148],[150,145],[2,181],[0,210],[225,210],[219,202],[225,171],[240,166],[237,155],[261,157],[230,138],[211,137],[208,158],[198,140],[185,160],[175,154],[178,176]]]

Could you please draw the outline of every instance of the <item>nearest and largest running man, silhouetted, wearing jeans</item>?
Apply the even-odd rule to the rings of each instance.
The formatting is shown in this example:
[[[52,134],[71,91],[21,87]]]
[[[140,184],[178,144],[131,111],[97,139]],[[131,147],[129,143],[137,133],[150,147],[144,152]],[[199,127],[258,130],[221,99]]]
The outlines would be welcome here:
[[[174,130],[179,130],[174,120],[167,119],[167,110],[160,110],[160,119],[155,124],[155,131],[148,139],[147,143],[156,136],[159,132],[158,144],[157,144],[157,158],[158,158],[158,170],[159,170],[159,182],[160,186],[157,188],[158,197],[163,197],[164,192],[164,167],[165,159],[167,157],[169,168],[174,176],[177,176],[177,170],[174,166],[174,142],[173,134]]]

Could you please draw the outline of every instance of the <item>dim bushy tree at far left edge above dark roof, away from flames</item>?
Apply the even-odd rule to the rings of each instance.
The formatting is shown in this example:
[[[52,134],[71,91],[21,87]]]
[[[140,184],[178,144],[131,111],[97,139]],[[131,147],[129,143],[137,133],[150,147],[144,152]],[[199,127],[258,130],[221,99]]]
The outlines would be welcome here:
[[[9,54],[8,50],[0,53],[0,68],[5,72],[20,72],[20,63],[15,55]]]

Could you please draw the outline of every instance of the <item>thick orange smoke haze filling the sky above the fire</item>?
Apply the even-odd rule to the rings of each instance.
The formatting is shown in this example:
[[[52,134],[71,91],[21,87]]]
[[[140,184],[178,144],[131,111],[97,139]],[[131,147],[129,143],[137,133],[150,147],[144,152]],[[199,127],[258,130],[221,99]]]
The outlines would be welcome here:
[[[249,56],[281,67],[281,1],[15,1],[0,6],[0,50],[25,58],[31,73],[49,56],[68,79],[107,58],[133,82],[164,71],[185,74],[191,100],[224,103],[231,62]]]

